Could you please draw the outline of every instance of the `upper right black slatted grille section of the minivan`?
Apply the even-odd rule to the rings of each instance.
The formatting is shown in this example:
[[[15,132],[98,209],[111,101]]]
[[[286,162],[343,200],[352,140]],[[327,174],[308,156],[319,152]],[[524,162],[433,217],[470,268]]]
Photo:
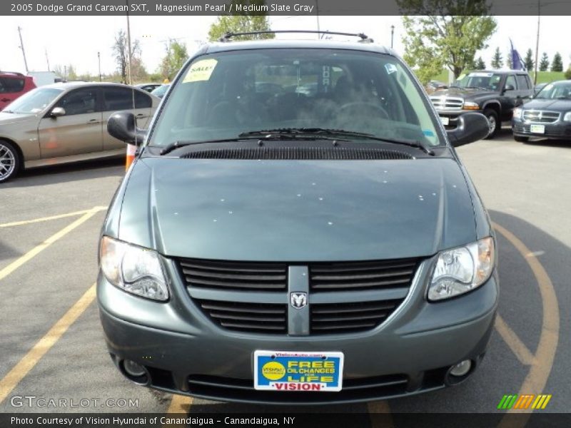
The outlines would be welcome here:
[[[315,263],[309,266],[310,290],[341,291],[408,287],[418,260]]]

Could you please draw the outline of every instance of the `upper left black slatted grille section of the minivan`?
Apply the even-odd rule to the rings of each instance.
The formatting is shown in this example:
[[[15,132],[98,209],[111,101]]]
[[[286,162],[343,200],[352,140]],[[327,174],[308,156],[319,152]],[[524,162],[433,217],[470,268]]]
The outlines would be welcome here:
[[[186,285],[225,290],[283,291],[288,286],[285,263],[219,262],[180,259]]]

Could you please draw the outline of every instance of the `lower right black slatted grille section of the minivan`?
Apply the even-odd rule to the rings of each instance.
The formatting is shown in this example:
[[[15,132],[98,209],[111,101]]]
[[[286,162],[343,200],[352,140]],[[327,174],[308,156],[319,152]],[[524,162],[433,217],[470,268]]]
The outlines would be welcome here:
[[[398,299],[310,305],[310,332],[328,335],[371,330],[386,320],[402,302]]]

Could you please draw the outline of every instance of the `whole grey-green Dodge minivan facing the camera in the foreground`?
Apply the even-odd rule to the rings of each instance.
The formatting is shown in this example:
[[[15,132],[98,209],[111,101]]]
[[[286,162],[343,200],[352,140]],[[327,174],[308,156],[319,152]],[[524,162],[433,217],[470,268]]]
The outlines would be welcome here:
[[[364,38],[364,36],[363,36]],[[458,384],[485,354],[495,235],[394,51],[345,41],[203,46],[108,210],[97,297],[138,384],[224,401],[358,402]]]

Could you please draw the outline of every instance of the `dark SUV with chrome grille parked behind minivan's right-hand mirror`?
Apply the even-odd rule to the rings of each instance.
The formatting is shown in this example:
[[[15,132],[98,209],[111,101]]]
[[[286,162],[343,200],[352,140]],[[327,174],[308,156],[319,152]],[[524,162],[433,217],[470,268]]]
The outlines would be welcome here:
[[[455,128],[458,117],[470,111],[486,116],[493,138],[502,121],[510,121],[513,109],[531,98],[533,84],[525,71],[472,71],[450,88],[430,96],[444,126]]]

